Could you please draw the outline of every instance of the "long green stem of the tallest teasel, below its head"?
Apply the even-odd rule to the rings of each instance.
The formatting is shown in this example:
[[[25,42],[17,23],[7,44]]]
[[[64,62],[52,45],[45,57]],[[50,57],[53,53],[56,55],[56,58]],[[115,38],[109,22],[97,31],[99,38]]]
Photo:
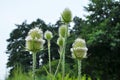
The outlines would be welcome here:
[[[68,37],[68,24],[67,25],[67,30],[65,33],[65,40],[64,40],[64,45],[63,45],[63,56],[62,56],[62,80],[64,80],[65,77],[65,50],[66,50],[66,44],[67,44],[67,37]]]

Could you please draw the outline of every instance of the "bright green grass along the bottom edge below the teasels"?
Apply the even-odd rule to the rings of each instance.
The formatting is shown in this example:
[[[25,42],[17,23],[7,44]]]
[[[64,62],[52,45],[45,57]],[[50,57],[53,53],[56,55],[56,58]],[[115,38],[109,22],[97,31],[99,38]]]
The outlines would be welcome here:
[[[36,80],[49,80],[49,79],[50,79],[49,75],[36,76]],[[6,80],[32,80],[32,71],[25,73],[25,72],[23,72],[23,69],[20,66],[18,66],[13,71],[13,75],[11,77],[7,78]],[[62,80],[62,75],[60,73],[58,73],[56,75],[56,78],[54,78],[52,80]],[[78,79],[74,76],[71,77],[71,76],[69,76],[69,74],[66,74],[66,76],[64,77],[64,80],[78,80]],[[92,79],[90,77],[86,77],[86,75],[84,75],[84,76],[82,76],[81,80],[92,80]]]

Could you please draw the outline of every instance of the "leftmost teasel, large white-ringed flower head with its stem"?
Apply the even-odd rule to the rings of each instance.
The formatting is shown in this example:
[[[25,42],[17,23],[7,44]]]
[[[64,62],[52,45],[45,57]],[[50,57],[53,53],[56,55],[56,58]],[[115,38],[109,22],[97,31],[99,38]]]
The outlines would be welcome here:
[[[45,40],[43,39],[43,31],[39,28],[33,28],[28,32],[28,36],[26,37],[26,50],[32,53],[33,56],[33,80],[35,80],[35,72],[36,72],[36,54],[41,49],[43,49],[43,44]]]

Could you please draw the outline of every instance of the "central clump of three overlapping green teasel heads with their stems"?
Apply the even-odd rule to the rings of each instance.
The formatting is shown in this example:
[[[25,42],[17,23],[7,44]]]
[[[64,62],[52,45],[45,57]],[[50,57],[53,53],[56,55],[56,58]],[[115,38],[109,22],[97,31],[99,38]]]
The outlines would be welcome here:
[[[57,44],[60,47],[59,54],[60,54],[60,60],[55,72],[55,75],[57,74],[58,68],[60,66],[60,63],[62,64],[62,80],[64,80],[65,77],[65,50],[66,50],[66,43],[67,38],[69,35],[68,31],[68,25],[72,21],[72,13],[70,9],[65,8],[64,11],[61,14],[61,21],[64,23],[59,27],[59,38],[57,40]]]

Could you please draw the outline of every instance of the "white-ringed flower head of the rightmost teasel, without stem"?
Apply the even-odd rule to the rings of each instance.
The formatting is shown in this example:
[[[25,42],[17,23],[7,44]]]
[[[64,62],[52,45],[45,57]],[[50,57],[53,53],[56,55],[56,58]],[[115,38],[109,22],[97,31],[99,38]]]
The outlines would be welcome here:
[[[77,38],[71,48],[72,57],[76,59],[86,58],[87,50],[85,40]]]

